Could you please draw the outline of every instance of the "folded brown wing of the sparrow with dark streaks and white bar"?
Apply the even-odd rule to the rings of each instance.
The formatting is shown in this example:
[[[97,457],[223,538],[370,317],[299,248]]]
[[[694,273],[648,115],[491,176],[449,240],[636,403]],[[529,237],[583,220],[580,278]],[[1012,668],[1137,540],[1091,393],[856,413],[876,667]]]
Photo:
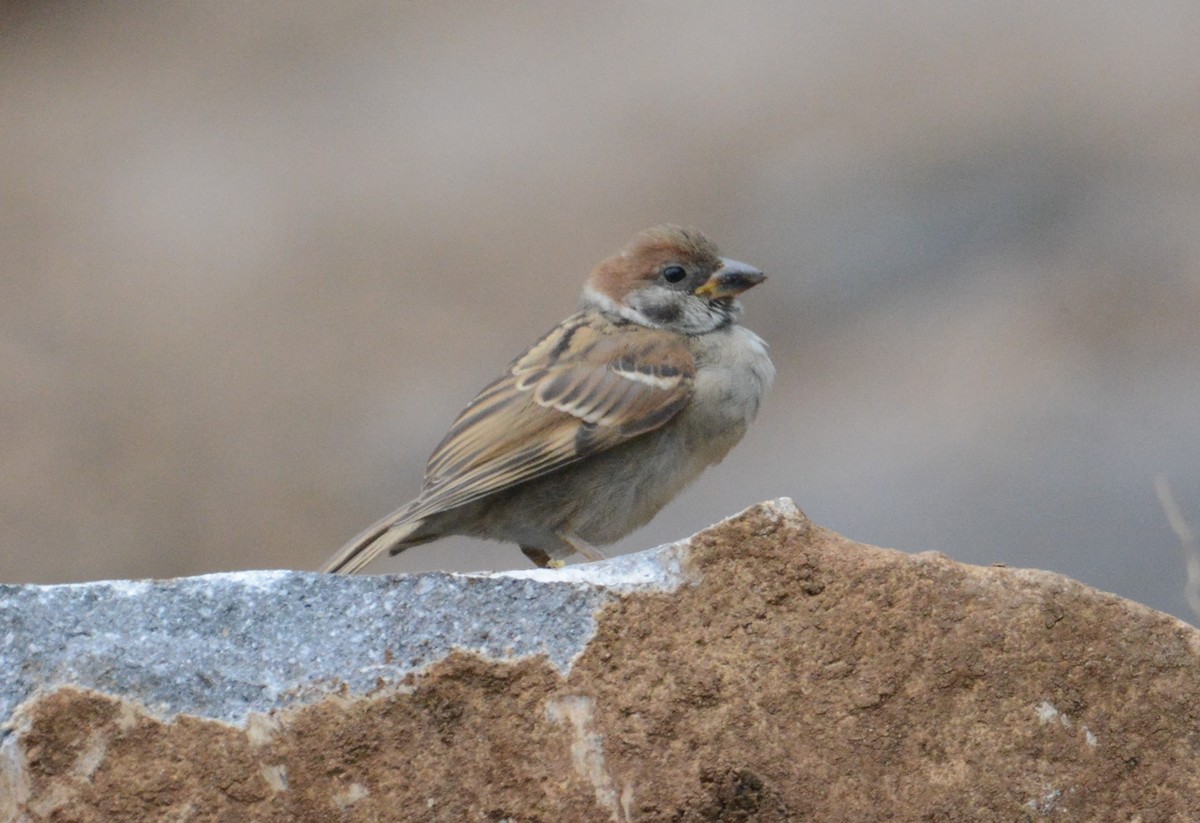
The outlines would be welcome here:
[[[695,373],[671,332],[575,314],[463,409],[404,518],[461,506],[653,431],[686,404]]]

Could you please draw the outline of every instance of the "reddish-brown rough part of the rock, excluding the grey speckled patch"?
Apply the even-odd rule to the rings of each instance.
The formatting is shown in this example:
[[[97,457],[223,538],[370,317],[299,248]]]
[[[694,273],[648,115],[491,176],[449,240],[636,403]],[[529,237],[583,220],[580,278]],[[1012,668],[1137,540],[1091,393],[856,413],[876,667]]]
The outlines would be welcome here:
[[[1200,818],[1200,635],[1180,620],[1057,575],[854,543],[776,505],[696,535],[685,566],[691,584],[605,607],[565,677],[455,654],[398,690],[246,727],[59,690],[5,743],[0,812]]]

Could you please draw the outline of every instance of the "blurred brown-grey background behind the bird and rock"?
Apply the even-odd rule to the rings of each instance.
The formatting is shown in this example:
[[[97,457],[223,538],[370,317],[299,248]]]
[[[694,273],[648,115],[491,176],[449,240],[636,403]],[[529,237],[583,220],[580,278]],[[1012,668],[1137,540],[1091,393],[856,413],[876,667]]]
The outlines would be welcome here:
[[[791,495],[1195,619],[1196,43],[1190,0],[0,5],[0,581],[316,567],[670,221],[768,272],[779,379],[612,552]]]

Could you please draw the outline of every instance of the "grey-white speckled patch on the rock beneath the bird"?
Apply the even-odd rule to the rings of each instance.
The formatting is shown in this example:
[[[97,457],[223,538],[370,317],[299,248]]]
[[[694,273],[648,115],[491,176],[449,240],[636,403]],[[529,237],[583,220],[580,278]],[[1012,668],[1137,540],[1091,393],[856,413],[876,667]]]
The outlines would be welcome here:
[[[454,650],[545,655],[565,673],[604,603],[683,582],[680,546],[481,575],[250,571],[0,585],[0,737],[23,701],[62,685],[163,717],[236,722],[332,691],[366,693]]]

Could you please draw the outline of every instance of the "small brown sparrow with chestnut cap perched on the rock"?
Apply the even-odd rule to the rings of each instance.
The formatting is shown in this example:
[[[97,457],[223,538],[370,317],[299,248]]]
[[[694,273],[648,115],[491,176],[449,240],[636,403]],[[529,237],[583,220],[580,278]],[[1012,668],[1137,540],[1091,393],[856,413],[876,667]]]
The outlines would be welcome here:
[[[542,567],[604,559],[742,439],[775,378],[738,323],[755,266],[659,226],[599,263],[580,310],[514,360],[434,449],[418,497],[325,572],[449,535],[516,543]]]

